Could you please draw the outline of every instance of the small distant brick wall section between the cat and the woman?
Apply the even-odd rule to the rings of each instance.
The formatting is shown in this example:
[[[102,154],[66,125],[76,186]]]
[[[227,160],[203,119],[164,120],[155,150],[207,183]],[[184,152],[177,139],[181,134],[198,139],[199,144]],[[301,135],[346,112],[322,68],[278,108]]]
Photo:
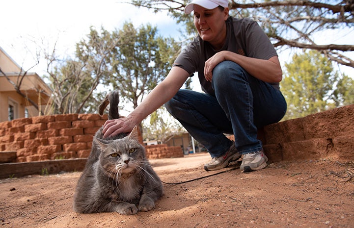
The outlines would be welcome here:
[[[146,146],[146,157],[148,159],[165,158],[165,157],[183,157],[181,147],[168,147],[165,144]]]

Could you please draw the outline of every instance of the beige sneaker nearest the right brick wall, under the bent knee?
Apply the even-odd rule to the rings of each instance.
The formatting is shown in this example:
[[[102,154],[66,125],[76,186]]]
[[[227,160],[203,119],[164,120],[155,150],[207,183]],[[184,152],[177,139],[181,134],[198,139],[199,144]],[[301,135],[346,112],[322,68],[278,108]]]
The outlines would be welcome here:
[[[240,169],[244,173],[263,169],[267,166],[268,157],[263,150],[258,152],[246,153],[242,158]]]

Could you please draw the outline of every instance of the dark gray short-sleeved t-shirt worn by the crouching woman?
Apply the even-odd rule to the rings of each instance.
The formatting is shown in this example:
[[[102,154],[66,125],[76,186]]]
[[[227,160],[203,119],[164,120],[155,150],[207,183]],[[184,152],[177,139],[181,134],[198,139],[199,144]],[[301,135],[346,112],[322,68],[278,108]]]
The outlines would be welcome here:
[[[218,51],[232,51],[248,57],[266,60],[277,56],[268,36],[255,21],[248,18],[229,17],[226,20],[226,29],[226,41],[220,50],[214,50],[209,42],[203,41],[198,35],[173,63],[173,66],[181,67],[191,76],[194,72],[198,72],[202,90],[213,96],[215,96],[215,93],[212,84],[204,77],[204,64]],[[270,84],[279,89],[279,83]]]

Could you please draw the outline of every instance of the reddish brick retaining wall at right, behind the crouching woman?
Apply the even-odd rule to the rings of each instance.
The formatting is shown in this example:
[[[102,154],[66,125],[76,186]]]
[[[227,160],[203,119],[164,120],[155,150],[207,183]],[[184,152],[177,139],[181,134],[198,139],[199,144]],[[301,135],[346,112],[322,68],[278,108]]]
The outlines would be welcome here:
[[[264,127],[259,133],[272,161],[354,160],[354,105]]]

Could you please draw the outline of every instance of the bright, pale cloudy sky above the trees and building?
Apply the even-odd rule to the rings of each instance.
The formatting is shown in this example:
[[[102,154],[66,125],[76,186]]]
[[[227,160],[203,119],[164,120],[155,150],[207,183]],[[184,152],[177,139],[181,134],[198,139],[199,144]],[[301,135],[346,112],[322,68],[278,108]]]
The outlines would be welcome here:
[[[156,14],[124,0],[2,0],[0,9],[0,47],[25,70],[35,63],[34,42],[43,43],[42,47],[48,51],[53,50],[56,42],[57,53],[73,55],[75,44],[88,34],[90,26],[96,29],[103,26],[111,31],[122,28],[124,22],[132,22],[135,27],[149,23],[157,26],[160,35],[176,40],[180,37],[180,28],[167,12]],[[323,44],[328,41],[354,44],[354,39],[348,40],[345,35],[346,32],[331,31],[319,35],[318,39],[322,39]],[[343,40],[343,37],[346,38]],[[280,53],[280,62],[290,61],[291,56],[292,52]],[[41,76],[46,67],[43,61],[30,71]],[[354,76],[353,68],[341,67],[340,71]],[[200,89],[197,80],[192,85],[194,89]]]

